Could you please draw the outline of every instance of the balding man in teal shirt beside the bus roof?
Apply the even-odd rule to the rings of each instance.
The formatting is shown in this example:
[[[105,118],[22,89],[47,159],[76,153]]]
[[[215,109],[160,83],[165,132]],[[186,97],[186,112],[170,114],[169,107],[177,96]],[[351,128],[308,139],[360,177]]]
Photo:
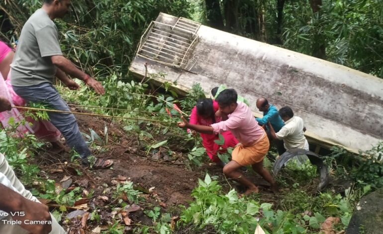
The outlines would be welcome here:
[[[273,139],[270,137],[270,129],[268,126],[268,122],[271,123],[273,126],[275,132],[278,132],[281,130],[281,128],[285,125],[284,121],[280,117],[278,113],[278,109],[272,105],[269,104],[267,99],[265,98],[259,98],[257,99],[257,108],[263,112],[263,117],[262,118],[255,118],[260,125],[265,125],[266,126],[266,133],[269,137],[270,142],[274,144],[274,146],[278,150],[278,154],[282,155],[284,152],[286,152],[286,149],[283,145],[283,140],[278,140],[278,139]]]

